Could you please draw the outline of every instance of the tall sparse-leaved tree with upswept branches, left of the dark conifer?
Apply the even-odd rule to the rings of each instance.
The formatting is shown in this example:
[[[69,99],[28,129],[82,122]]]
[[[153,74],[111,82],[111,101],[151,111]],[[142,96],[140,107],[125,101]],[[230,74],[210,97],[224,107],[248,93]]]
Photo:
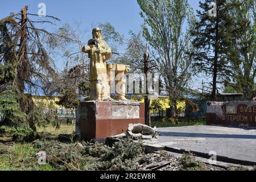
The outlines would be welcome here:
[[[158,71],[170,97],[172,116],[191,79],[193,47],[189,30],[195,16],[187,0],[138,0],[144,19],[143,36],[152,47]],[[187,23],[187,27],[185,27]]]

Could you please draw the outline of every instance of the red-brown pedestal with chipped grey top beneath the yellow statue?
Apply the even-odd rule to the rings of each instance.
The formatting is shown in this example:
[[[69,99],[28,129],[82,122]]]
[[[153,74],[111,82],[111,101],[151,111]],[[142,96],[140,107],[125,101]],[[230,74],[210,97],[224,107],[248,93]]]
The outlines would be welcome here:
[[[76,134],[82,139],[105,139],[125,133],[130,123],[144,124],[144,103],[137,101],[80,102]]]

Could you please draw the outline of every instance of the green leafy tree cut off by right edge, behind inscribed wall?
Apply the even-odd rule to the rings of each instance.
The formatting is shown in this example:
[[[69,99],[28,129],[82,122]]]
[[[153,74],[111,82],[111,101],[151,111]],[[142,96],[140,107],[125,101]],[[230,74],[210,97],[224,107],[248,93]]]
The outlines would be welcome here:
[[[251,100],[256,79],[256,2],[231,0],[239,6],[230,10],[234,20],[232,47],[228,58],[232,65],[232,86]]]

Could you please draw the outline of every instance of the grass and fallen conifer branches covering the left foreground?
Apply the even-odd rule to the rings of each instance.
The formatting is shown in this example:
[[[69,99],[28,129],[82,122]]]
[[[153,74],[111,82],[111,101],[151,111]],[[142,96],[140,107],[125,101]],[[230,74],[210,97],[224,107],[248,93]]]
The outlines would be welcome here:
[[[38,164],[39,151],[47,154],[46,164]],[[56,140],[35,140],[0,147],[0,170],[134,170],[141,143],[126,138],[112,147],[101,143],[61,143]]]

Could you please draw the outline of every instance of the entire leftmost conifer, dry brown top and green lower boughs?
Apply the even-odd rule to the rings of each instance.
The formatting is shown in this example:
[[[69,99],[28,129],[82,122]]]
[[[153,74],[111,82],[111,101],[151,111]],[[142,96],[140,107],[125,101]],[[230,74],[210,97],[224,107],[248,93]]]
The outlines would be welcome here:
[[[26,137],[36,130],[35,106],[31,94],[33,90],[52,90],[49,85],[57,80],[57,74],[42,36],[54,34],[40,28],[36,23],[51,23],[48,20],[32,20],[25,6],[20,13],[0,20],[0,131],[11,132],[14,138]],[[52,16],[48,18],[56,19]],[[35,81],[36,80],[36,81]],[[26,89],[27,88],[27,89]],[[27,91],[28,96],[24,96]],[[34,92],[35,93],[35,92]]]

